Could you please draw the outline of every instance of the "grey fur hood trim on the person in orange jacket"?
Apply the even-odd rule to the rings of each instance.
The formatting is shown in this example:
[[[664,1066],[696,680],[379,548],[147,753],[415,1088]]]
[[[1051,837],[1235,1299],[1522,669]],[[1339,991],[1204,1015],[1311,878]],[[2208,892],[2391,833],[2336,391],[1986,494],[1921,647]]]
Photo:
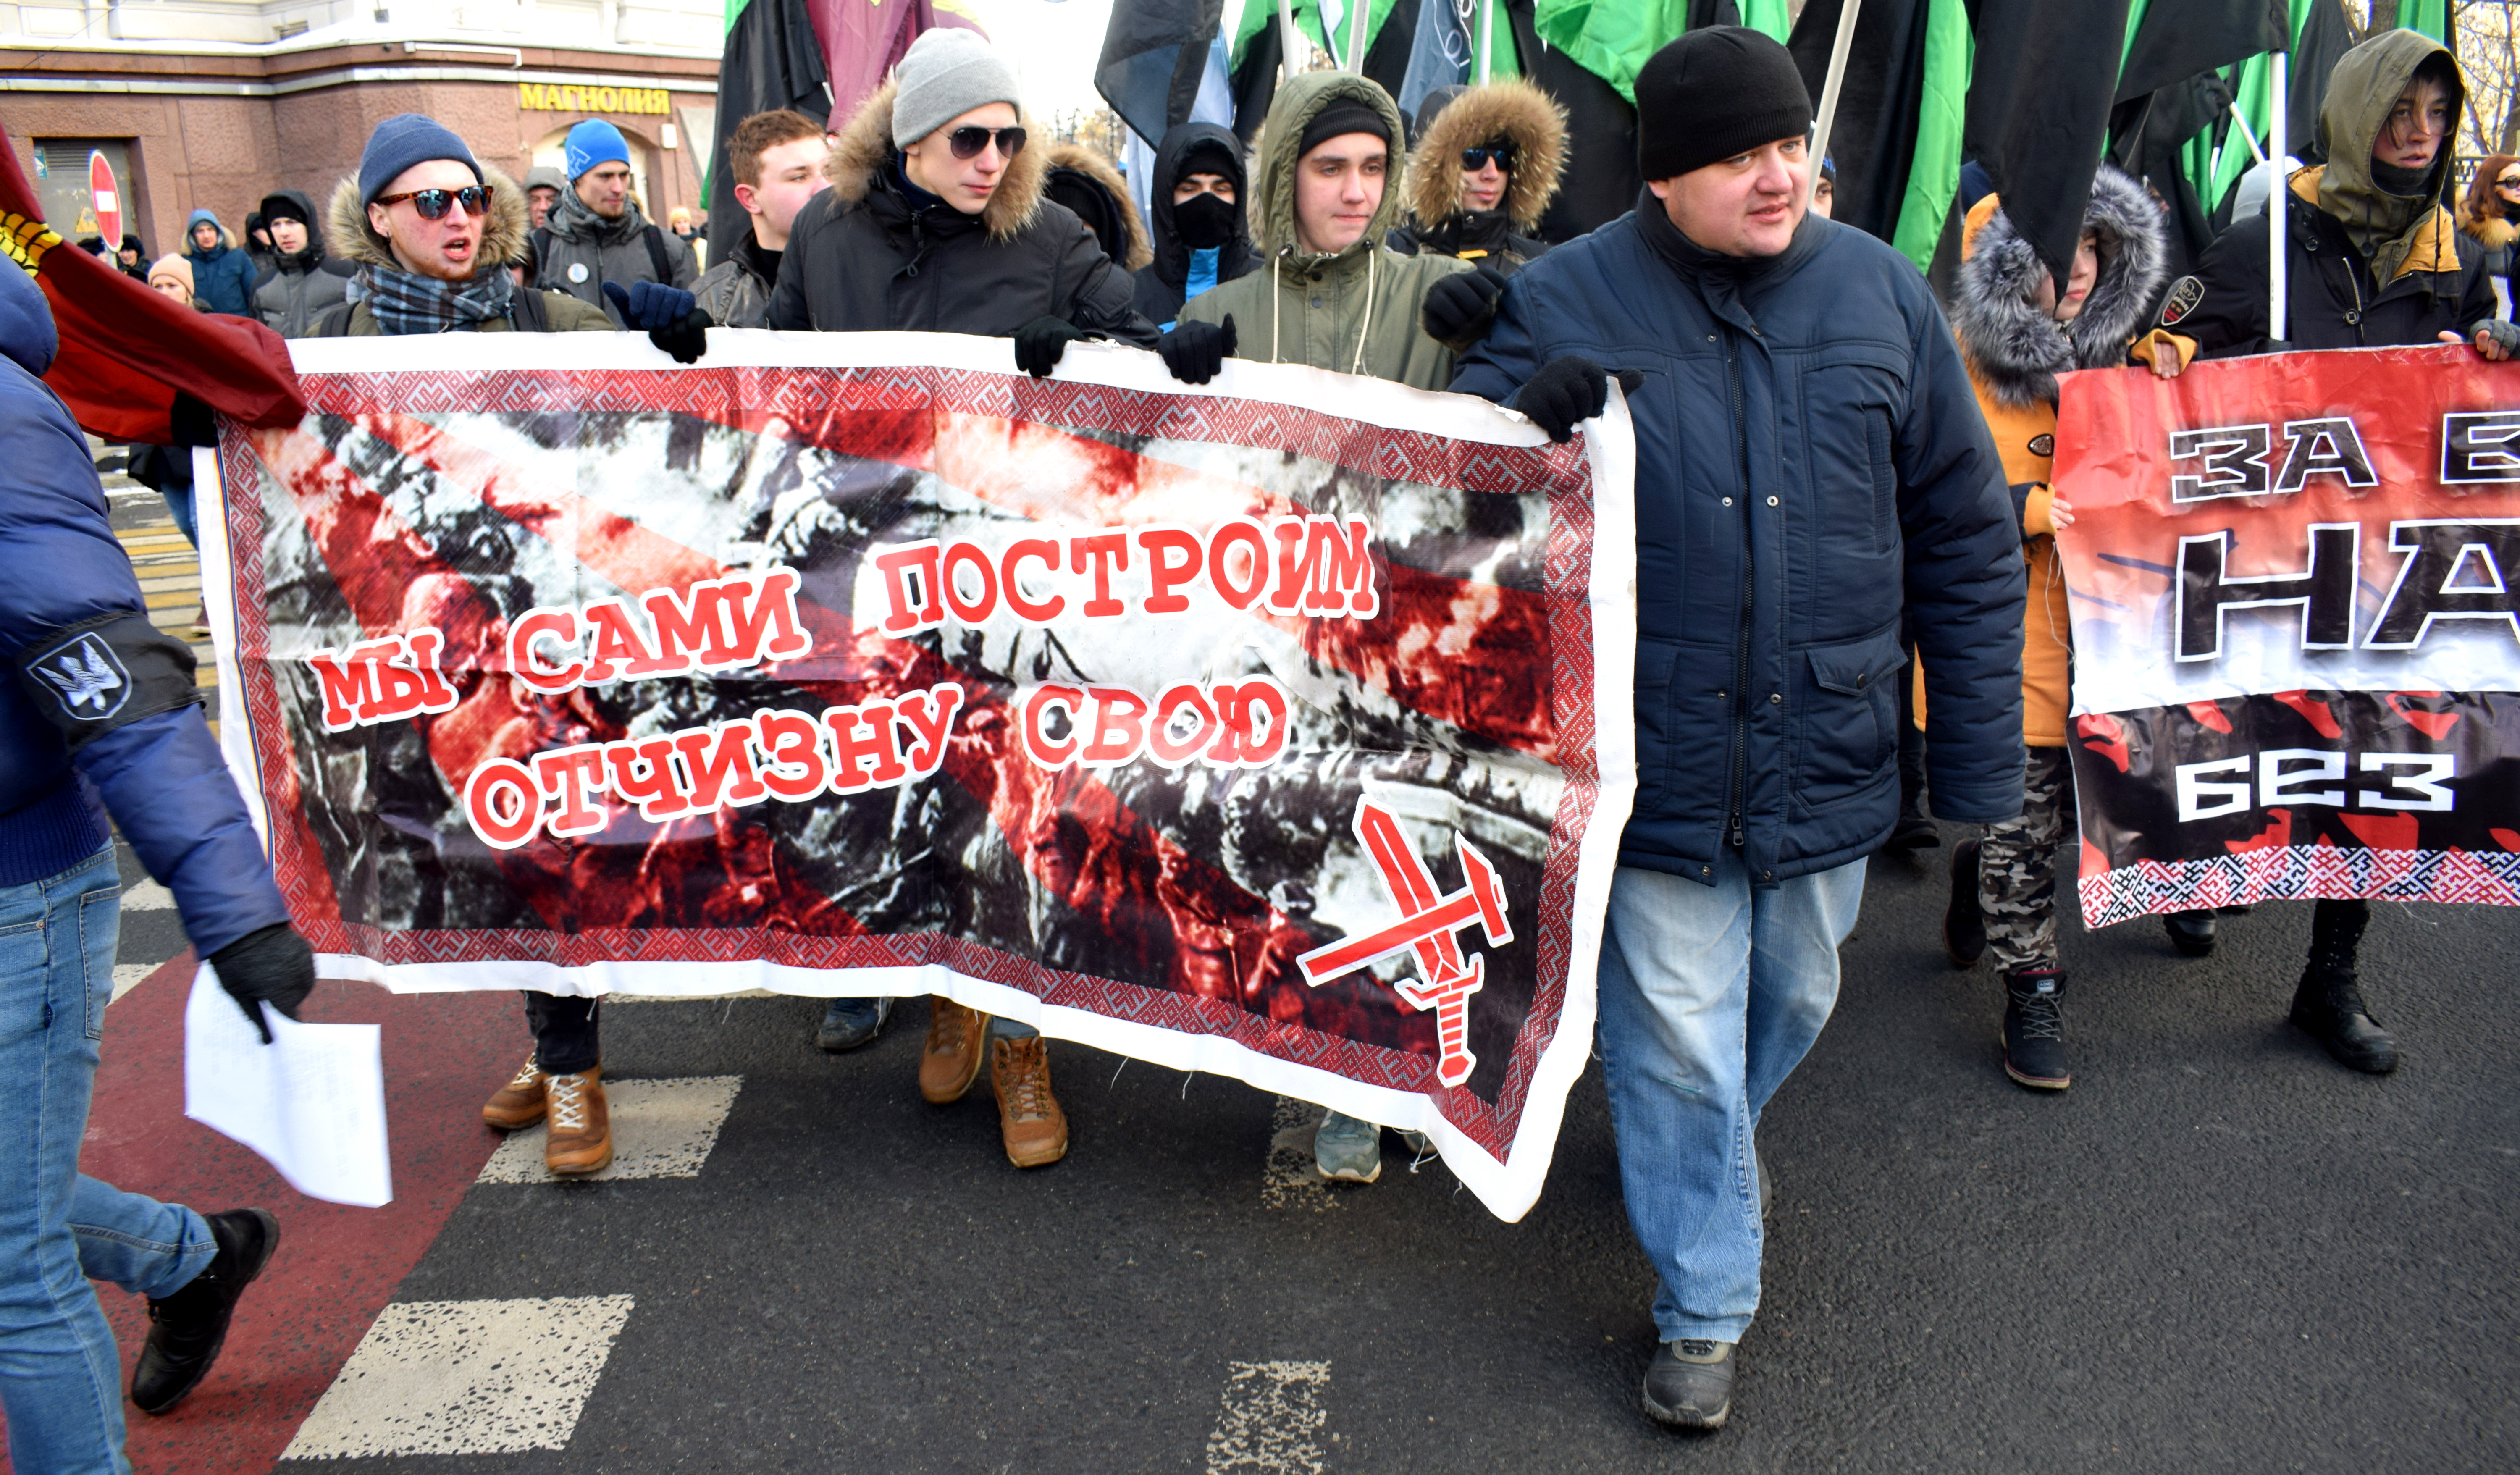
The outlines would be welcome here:
[[[1998,403],[2056,403],[2056,376],[2127,361],[2127,343],[2162,285],[2162,212],[2127,174],[2102,164],[2092,176],[2084,229],[2099,232],[2099,280],[2074,323],[2061,325],[2034,303],[2046,267],[2013,232],[2001,202],[1963,245],[1953,282],[1950,330],[1978,383]]]

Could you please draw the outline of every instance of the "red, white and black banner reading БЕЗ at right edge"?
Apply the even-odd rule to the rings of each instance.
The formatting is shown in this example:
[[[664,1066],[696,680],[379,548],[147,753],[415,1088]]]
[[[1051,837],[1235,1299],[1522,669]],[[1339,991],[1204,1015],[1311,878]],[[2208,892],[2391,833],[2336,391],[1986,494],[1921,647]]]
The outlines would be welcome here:
[[[2520,366],[2076,373],[2056,492],[2089,925],[2520,903]]]

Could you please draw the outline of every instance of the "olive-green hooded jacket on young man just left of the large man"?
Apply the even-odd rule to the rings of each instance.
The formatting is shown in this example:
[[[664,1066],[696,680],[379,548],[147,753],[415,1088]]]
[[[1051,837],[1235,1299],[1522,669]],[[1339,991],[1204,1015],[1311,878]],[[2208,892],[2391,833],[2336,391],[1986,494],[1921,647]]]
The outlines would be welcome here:
[[[1383,204],[1356,245],[1333,255],[1295,245],[1295,146],[1313,113],[1343,98],[1381,113],[1394,144],[1409,136],[1391,96],[1361,76],[1313,71],[1280,88],[1257,144],[1260,267],[1192,298],[1182,320],[1222,323],[1232,315],[1235,358],[1446,388],[1454,353],[1426,338],[1419,313],[1426,287],[1474,265],[1439,255],[1404,257],[1381,245],[1401,217],[1399,146],[1391,151],[1394,174],[1383,179]]]

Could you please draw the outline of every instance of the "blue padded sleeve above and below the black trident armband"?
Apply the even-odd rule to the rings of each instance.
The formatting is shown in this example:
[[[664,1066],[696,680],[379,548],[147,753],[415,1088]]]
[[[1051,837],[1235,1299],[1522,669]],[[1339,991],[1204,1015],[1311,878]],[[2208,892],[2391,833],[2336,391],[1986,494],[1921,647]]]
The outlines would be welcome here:
[[[0,567],[43,577],[0,577],[0,658],[98,615],[146,610],[78,426],[43,383],[8,368],[0,454],[13,492],[0,504]],[[63,734],[23,701],[8,711],[0,749],[13,761],[60,764]],[[106,731],[71,754],[71,764],[98,789],[149,875],[174,893],[197,951],[217,953],[290,920],[202,709],[159,711]]]

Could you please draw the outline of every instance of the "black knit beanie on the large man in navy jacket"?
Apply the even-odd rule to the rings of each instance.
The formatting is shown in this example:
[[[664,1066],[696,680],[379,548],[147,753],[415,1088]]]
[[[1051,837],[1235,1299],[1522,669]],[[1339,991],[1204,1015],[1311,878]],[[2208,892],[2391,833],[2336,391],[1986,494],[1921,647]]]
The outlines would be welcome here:
[[[1809,131],[1812,93],[1794,53],[1746,25],[1691,30],[1635,73],[1635,166],[1646,179]]]

